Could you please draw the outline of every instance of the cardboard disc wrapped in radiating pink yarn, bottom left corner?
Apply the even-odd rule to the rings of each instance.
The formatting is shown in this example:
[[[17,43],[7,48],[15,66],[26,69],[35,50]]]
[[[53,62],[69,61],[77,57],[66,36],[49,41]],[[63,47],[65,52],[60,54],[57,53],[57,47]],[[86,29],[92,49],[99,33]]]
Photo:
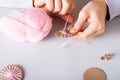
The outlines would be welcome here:
[[[22,80],[22,69],[16,65],[8,65],[0,72],[0,80]]]

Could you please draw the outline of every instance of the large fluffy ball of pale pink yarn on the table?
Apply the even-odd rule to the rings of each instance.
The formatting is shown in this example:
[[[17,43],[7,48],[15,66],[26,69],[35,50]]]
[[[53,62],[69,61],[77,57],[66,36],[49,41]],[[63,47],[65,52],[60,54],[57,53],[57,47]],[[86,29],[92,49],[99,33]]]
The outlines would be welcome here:
[[[40,41],[51,28],[52,19],[39,8],[14,11],[0,20],[0,31],[17,41]]]

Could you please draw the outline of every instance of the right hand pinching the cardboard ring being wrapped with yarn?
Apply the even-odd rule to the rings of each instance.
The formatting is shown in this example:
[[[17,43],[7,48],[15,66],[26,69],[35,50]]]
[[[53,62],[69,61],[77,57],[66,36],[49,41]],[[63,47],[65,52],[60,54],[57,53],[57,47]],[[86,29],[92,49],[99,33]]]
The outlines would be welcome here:
[[[71,33],[78,32],[76,37],[83,40],[99,35],[105,30],[106,13],[105,0],[92,0],[80,11],[77,22],[69,30]],[[85,22],[88,22],[88,27],[82,31]]]

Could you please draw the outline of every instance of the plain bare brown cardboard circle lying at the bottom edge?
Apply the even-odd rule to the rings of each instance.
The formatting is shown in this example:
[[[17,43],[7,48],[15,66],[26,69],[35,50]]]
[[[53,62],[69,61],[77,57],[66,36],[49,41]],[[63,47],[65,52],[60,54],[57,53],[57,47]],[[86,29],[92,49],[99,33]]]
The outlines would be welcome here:
[[[102,69],[92,67],[84,72],[83,80],[107,80],[107,77]]]

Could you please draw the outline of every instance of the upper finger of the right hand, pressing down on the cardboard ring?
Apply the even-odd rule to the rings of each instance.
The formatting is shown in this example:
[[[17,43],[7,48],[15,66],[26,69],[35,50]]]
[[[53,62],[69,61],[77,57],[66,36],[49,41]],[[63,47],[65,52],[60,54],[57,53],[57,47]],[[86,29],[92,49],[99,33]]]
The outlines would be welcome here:
[[[74,25],[74,27],[70,30],[71,33],[76,33],[80,31],[88,19],[88,15],[86,13],[80,12],[79,17]]]

